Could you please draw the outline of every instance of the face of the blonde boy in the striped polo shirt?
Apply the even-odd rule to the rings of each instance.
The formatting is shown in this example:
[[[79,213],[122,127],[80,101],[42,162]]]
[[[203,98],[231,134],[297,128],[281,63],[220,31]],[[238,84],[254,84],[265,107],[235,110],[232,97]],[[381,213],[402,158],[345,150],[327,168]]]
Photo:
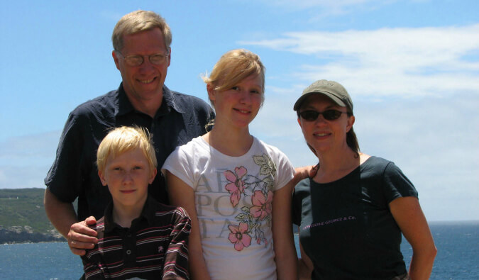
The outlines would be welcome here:
[[[148,184],[156,176],[156,168],[151,170],[148,159],[140,148],[123,152],[106,159],[103,172],[98,175],[101,184],[108,186],[115,207],[135,208],[145,203]]]

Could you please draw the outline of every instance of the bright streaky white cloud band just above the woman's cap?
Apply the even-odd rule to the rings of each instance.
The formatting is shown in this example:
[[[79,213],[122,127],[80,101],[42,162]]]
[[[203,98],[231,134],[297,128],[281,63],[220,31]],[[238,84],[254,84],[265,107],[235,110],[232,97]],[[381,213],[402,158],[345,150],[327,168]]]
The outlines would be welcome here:
[[[375,98],[447,96],[458,90],[479,93],[478,33],[479,24],[475,24],[294,32],[240,43],[311,57],[314,64],[287,73],[307,84],[319,78],[335,79],[356,96]]]

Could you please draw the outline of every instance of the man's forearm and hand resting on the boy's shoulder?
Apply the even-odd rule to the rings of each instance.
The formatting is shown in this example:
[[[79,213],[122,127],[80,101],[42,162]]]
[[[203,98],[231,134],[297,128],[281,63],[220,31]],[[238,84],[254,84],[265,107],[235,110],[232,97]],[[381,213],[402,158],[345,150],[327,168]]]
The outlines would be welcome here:
[[[91,216],[79,222],[72,203],[60,201],[48,188],[45,190],[43,204],[48,219],[67,239],[73,254],[82,256],[85,254],[85,249],[92,249],[98,242],[95,237],[97,232],[87,226],[97,223],[94,217]]]

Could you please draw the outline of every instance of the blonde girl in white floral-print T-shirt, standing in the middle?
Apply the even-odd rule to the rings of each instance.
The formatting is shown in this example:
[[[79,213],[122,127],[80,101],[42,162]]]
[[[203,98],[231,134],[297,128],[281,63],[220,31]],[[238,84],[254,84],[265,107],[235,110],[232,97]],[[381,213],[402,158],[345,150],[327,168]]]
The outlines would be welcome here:
[[[214,127],[178,147],[163,165],[170,201],[192,218],[192,279],[296,277],[294,169],[248,128],[263,103],[264,71],[258,55],[226,52],[204,77],[216,111]]]

